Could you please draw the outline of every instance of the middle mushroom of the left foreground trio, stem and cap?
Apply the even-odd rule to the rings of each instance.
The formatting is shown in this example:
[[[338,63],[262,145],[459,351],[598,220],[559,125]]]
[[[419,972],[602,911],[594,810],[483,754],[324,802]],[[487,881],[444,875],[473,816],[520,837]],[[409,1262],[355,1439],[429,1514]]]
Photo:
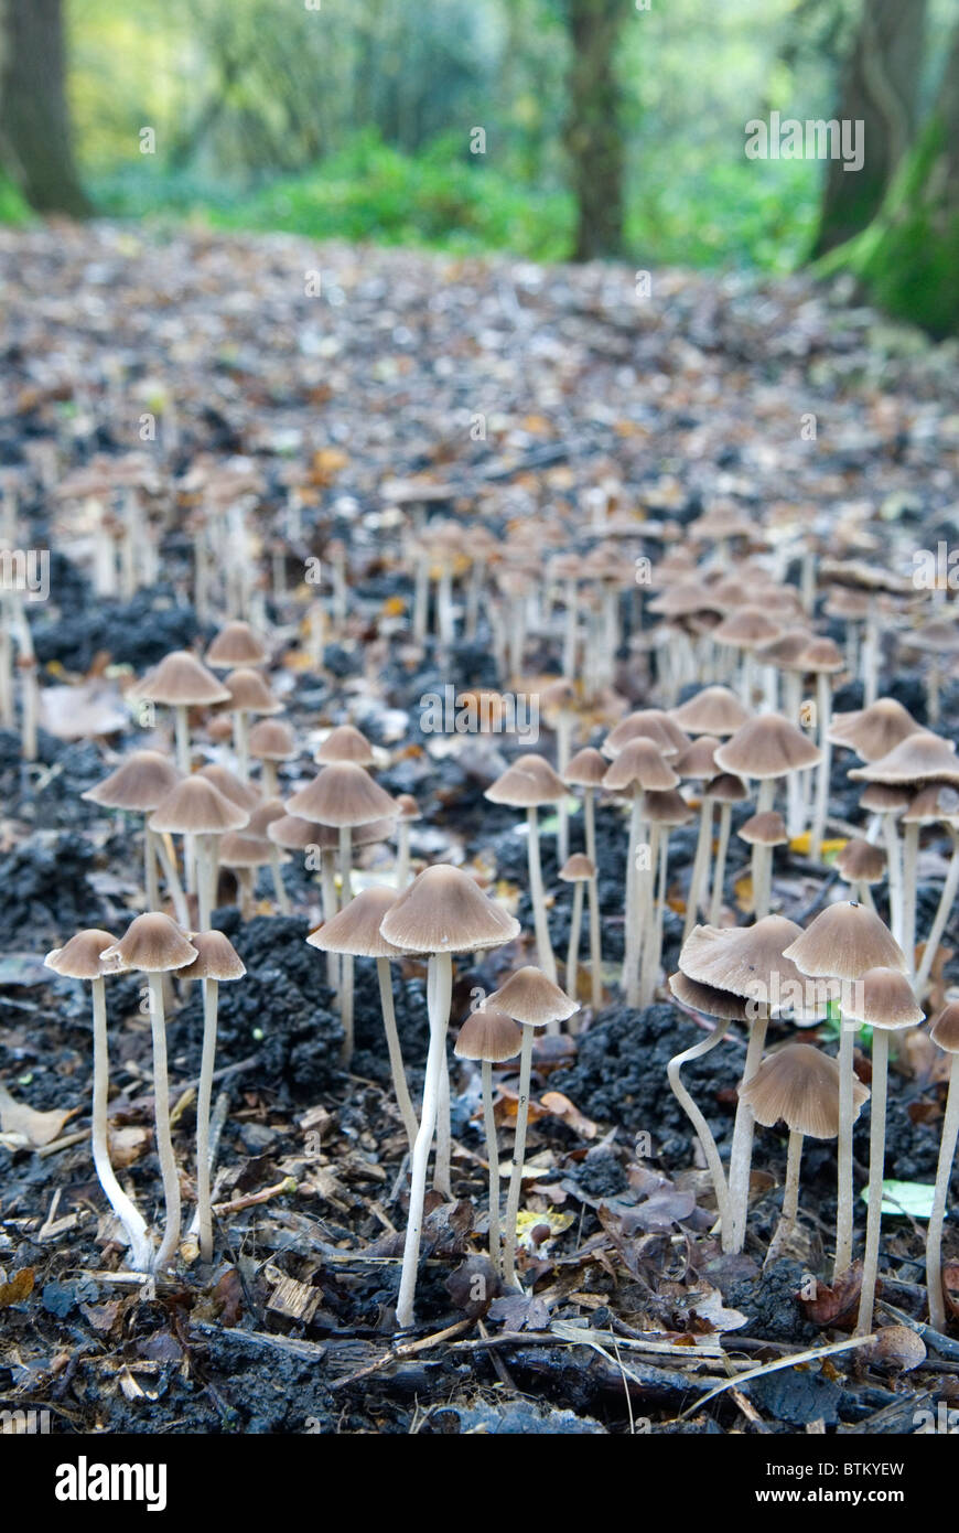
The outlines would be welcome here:
[[[185,969],[198,957],[179,926],[169,915],[149,911],[127,926],[116,943],[100,955],[118,969],[139,969],[150,989],[150,1032],[153,1036],[153,1118],[156,1122],[156,1153],[164,1183],[165,1226],[152,1272],[162,1272],[173,1260],[179,1242],[179,1176],[170,1137],[170,1085],[167,1081],[167,1030],[162,977]]]

